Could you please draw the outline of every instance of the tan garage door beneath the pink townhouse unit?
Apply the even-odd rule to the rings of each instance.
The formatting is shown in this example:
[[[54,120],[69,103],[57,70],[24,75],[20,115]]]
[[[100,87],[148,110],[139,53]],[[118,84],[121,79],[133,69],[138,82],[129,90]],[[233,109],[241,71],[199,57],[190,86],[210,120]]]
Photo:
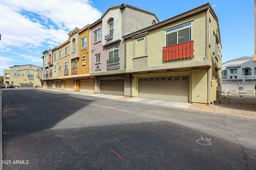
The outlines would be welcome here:
[[[124,96],[124,79],[100,80],[100,93]]]

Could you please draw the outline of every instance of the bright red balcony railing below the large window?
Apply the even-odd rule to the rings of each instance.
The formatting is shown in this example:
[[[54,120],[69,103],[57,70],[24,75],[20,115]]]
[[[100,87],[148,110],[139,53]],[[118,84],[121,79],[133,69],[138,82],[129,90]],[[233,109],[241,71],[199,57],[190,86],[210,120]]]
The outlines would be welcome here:
[[[193,43],[194,41],[187,41],[163,47],[163,61],[194,57]]]

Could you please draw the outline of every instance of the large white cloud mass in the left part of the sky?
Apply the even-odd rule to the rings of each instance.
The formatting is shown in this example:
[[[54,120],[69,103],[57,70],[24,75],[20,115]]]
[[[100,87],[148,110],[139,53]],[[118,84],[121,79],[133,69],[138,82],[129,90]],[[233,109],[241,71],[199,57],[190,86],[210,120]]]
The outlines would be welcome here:
[[[42,55],[68,40],[69,31],[83,28],[101,15],[88,0],[2,0],[0,52]]]

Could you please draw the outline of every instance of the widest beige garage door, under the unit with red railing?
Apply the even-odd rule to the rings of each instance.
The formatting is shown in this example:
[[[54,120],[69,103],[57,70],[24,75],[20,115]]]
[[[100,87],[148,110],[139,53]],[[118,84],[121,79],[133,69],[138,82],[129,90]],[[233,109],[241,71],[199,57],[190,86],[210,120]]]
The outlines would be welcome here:
[[[189,76],[138,78],[139,98],[189,102]]]

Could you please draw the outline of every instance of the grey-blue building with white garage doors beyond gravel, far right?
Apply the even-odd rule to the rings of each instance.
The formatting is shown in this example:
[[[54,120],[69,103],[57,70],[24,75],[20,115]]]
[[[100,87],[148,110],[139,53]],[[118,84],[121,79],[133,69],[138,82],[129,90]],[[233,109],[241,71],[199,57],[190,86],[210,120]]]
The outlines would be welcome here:
[[[256,63],[252,57],[240,57],[222,64],[222,91],[226,88],[245,93],[254,90],[256,84]]]

